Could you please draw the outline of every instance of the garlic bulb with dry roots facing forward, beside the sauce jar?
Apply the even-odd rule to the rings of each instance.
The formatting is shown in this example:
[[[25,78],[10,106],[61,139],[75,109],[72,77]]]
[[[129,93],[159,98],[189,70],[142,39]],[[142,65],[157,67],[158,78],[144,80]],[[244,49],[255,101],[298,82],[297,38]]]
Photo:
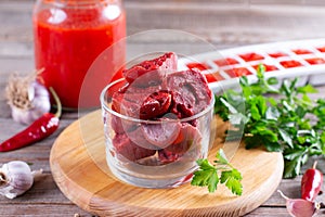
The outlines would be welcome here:
[[[51,108],[48,89],[36,80],[36,75],[13,75],[5,88],[8,104],[15,122],[29,125]]]

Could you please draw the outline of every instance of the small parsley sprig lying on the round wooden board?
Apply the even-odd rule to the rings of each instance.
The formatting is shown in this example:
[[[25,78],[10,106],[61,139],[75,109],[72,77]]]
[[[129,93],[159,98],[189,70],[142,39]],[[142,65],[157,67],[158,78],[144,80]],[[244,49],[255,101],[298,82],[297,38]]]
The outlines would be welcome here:
[[[232,193],[242,195],[243,179],[240,173],[234,168],[227,161],[222,149],[216,155],[213,165],[207,158],[197,159],[199,169],[194,173],[191,184],[198,187],[208,187],[209,192],[214,192],[219,183],[225,184]]]

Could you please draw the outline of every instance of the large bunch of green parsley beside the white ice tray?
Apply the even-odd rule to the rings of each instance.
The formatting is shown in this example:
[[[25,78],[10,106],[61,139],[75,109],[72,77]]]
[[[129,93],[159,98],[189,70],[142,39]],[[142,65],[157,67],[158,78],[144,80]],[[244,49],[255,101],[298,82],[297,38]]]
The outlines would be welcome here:
[[[242,91],[216,95],[214,113],[235,128],[226,131],[229,139],[243,138],[247,149],[282,152],[284,178],[294,178],[310,156],[325,154],[325,100],[312,101],[309,93],[316,90],[297,87],[298,78],[275,88],[277,78],[266,79],[264,72],[260,65],[256,82],[244,76]]]

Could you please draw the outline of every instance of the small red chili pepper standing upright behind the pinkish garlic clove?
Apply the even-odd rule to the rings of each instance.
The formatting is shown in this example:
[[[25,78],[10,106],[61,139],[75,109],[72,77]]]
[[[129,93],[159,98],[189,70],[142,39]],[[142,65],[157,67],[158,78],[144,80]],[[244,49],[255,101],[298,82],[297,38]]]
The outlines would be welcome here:
[[[308,169],[301,179],[301,199],[313,202],[318,195],[323,184],[323,174],[316,169],[317,162]]]

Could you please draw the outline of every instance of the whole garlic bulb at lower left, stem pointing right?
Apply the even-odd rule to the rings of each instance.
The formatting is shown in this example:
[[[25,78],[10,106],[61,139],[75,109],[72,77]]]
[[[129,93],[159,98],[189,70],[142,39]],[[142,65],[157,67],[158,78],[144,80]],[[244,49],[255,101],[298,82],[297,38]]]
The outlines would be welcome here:
[[[3,164],[0,168],[0,194],[14,199],[27,190],[34,182],[34,177],[42,170],[31,171],[30,167],[22,161]]]

